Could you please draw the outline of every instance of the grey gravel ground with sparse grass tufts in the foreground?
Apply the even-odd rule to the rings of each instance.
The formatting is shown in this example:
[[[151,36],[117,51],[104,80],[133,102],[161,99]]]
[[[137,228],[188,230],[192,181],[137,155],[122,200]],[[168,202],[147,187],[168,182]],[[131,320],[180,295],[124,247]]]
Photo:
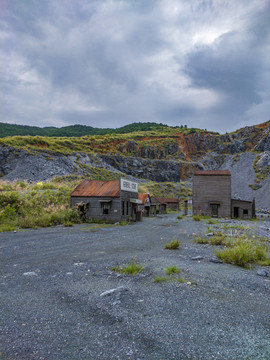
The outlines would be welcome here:
[[[230,223],[270,239],[269,221]],[[169,214],[1,233],[0,359],[270,359],[270,277],[212,262],[206,229]],[[143,273],[110,270],[133,257]],[[186,283],[154,282],[172,265]]]

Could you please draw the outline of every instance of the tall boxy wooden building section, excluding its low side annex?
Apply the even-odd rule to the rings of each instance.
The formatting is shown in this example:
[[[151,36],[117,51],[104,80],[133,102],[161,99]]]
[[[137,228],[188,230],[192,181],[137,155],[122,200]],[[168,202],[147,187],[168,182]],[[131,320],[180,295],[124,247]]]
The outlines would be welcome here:
[[[231,217],[231,173],[228,170],[195,171],[193,214]]]

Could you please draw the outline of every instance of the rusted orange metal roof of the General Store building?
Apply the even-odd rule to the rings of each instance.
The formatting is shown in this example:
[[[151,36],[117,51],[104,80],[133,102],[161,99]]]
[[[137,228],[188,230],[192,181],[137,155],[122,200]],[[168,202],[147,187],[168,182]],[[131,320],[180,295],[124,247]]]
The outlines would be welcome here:
[[[70,196],[119,197],[119,181],[83,180]]]

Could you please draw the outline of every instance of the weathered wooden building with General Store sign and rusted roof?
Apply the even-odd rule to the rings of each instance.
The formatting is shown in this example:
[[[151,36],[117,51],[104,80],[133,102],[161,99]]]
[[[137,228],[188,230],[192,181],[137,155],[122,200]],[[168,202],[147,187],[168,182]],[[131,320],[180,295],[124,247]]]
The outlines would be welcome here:
[[[83,180],[71,193],[70,202],[86,219],[136,221],[140,203],[138,184],[122,178],[115,181]]]

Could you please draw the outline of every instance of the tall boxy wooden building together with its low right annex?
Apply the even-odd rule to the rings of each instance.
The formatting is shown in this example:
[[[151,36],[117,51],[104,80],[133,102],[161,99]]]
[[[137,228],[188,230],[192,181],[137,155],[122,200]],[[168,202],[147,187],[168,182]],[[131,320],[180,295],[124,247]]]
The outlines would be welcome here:
[[[228,218],[255,218],[255,200],[231,199],[231,173],[228,170],[195,171],[193,214]]]

